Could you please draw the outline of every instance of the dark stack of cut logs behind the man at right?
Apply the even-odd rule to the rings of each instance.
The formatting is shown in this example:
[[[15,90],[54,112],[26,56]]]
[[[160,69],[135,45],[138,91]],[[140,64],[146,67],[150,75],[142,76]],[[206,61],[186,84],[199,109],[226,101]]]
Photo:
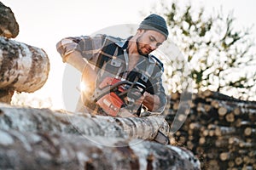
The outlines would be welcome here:
[[[170,98],[167,122],[173,128],[175,117],[183,117],[172,144],[192,150],[202,169],[256,169],[256,102],[212,91],[190,96]],[[180,113],[183,103],[189,107]]]

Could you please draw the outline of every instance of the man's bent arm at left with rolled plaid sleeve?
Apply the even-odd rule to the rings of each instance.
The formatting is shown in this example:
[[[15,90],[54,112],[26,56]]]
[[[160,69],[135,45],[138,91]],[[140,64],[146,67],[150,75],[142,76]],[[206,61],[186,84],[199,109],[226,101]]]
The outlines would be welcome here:
[[[102,37],[67,37],[56,44],[57,51],[61,54],[63,62],[73,65],[83,74],[83,83],[86,89],[94,91],[96,71],[90,63],[96,62],[94,54],[102,47]],[[95,50],[92,50],[96,48]],[[91,50],[89,50],[91,49]],[[87,52],[86,50],[89,50]],[[84,54],[84,55],[83,55]]]

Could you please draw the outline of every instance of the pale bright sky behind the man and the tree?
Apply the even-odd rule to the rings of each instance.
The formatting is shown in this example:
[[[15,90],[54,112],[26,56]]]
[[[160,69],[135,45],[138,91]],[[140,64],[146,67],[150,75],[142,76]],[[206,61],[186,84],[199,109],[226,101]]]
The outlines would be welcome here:
[[[147,3],[145,3],[147,2]],[[20,26],[14,40],[43,48],[49,56],[49,79],[44,87],[26,98],[51,99],[53,109],[62,109],[62,78],[67,65],[62,63],[55,49],[63,37],[90,35],[109,26],[139,24],[159,0],[2,0],[12,9]],[[168,1],[167,2],[171,2]],[[188,1],[183,1],[188,2]],[[233,11],[240,28],[256,25],[255,0],[191,0],[211,12],[223,8],[225,14]],[[148,13],[149,14],[149,13]],[[253,35],[256,35],[254,26]],[[254,36],[256,37],[256,36]],[[21,99],[22,97],[20,97]]]

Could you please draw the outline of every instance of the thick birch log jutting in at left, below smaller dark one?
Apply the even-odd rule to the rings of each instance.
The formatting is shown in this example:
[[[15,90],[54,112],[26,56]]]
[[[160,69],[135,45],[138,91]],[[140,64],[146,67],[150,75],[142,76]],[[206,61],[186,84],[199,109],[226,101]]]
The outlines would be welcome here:
[[[49,74],[49,58],[41,48],[0,37],[0,89],[32,93]]]

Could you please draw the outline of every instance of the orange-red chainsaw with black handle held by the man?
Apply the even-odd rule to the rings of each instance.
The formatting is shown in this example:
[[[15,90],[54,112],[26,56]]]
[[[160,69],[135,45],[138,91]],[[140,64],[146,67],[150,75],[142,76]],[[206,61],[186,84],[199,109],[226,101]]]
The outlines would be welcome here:
[[[134,113],[134,103],[145,92],[145,85],[106,77],[96,88],[92,100],[109,116],[118,116],[121,108]]]

